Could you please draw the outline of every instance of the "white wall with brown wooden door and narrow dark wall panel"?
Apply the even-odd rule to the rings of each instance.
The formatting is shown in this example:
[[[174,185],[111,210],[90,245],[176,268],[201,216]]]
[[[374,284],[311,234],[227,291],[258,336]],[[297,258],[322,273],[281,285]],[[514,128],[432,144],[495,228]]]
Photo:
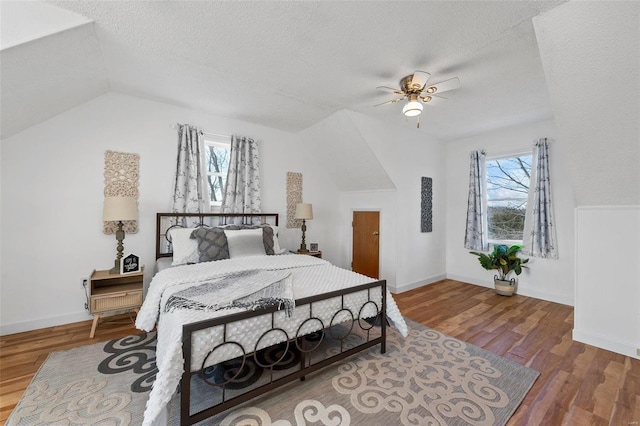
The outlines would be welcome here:
[[[391,290],[402,292],[445,278],[447,185],[443,143],[411,125],[383,125],[353,112],[349,116],[397,189],[341,194],[345,257],[350,262],[352,212],[380,210],[380,276],[387,279]],[[426,233],[420,230],[423,176],[433,179],[433,232]]]

